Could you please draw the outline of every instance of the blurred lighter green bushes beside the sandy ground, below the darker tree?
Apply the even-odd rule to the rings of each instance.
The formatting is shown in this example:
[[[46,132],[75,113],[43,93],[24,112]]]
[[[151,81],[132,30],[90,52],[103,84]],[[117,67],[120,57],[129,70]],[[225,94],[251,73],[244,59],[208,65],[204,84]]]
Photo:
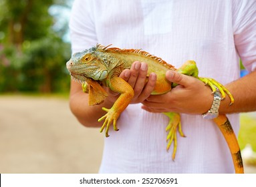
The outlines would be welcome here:
[[[22,51],[13,46],[1,51],[0,91],[68,91],[70,43],[44,37],[25,41]]]

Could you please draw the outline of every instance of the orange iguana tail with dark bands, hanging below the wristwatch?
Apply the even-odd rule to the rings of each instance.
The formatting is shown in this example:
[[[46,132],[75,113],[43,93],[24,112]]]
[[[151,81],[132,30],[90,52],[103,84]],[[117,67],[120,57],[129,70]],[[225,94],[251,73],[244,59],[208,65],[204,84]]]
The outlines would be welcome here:
[[[237,137],[233,131],[233,128],[229,122],[229,119],[226,115],[219,115],[214,119],[214,122],[217,124],[219,129],[221,130],[225,140],[229,146],[229,150],[231,152],[233,163],[235,167],[236,174],[243,174],[243,160],[241,157],[241,152],[239,148],[239,144],[237,142]]]

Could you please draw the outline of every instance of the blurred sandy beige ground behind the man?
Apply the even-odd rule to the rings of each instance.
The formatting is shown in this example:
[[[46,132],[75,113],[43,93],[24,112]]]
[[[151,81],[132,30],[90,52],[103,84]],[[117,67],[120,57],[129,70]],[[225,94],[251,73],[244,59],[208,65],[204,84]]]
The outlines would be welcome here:
[[[98,129],[78,123],[67,99],[0,96],[2,174],[97,173],[103,140]]]

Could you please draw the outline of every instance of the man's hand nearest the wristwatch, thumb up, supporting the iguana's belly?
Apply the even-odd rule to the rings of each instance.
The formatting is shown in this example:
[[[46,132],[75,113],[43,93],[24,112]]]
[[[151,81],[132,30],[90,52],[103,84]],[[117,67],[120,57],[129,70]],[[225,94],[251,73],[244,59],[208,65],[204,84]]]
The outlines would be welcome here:
[[[168,93],[150,96],[142,102],[142,109],[148,112],[203,114],[211,108],[211,88],[199,79],[176,71],[166,71],[166,79],[178,85]]]

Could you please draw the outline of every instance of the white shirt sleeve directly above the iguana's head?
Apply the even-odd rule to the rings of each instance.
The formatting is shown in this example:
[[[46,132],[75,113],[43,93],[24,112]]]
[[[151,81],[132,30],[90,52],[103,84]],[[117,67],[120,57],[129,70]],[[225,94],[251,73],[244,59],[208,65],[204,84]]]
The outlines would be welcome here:
[[[94,25],[92,1],[74,1],[69,27],[72,54],[96,45],[97,37]]]

